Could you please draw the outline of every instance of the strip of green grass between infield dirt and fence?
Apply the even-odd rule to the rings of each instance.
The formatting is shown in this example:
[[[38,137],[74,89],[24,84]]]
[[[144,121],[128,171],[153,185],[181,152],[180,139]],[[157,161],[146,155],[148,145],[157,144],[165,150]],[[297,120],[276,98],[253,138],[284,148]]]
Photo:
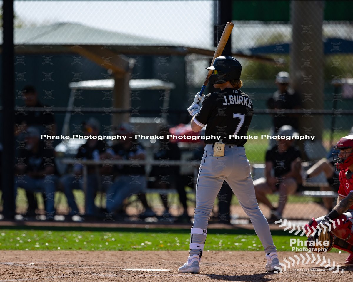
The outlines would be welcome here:
[[[189,249],[190,229],[120,228],[50,228],[6,227],[0,229],[0,250],[185,250]],[[292,251],[290,238],[300,238],[286,231],[273,231],[279,251]],[[301,237],[301,240],[305,240]],[[263,250],[260,240],[252,230],[210,229],[205,251]]]

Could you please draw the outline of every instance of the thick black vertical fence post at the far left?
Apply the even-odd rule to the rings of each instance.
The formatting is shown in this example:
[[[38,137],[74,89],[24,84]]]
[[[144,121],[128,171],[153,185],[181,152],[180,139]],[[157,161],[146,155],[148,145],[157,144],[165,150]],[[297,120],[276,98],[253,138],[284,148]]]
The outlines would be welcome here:
[[[2,1],[2,197],[4,218],[15,215],[13,0]],[[6,121],[6,122],[5,122]]]

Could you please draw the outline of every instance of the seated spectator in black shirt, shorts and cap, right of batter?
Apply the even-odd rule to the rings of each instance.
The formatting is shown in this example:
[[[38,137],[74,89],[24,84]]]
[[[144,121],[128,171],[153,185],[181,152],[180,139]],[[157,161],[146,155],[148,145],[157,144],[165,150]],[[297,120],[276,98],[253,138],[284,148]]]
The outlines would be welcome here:
[[[295,136],[298,133],[290,125],[283,125],[277,135]],[[287,195],[294,194],[301,186],[300,163],[300,151],[293,146],[293,139],[279,139],[277,145],[266,152],[265,177],[256,179],[254,186],[257,201],[271,209],[271,220],[281,218]],[[275,192],[280,196],[277,208],[266,197]]]

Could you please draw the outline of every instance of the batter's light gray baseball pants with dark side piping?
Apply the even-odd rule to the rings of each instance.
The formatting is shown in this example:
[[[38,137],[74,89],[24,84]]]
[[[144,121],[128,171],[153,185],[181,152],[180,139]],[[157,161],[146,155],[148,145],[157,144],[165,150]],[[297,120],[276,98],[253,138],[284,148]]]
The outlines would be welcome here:
[[[190,255],[202,255],[208,220],[223,181],[232,188],[240,206],[249,216],[265,253],[275,252],[276,246],[273,244],[270,227],[256,200],[250,164],[244,147],[226,144],[225,155],[213,157],[212,144],[207,144],[196,183],[196,208],[191,228]]]

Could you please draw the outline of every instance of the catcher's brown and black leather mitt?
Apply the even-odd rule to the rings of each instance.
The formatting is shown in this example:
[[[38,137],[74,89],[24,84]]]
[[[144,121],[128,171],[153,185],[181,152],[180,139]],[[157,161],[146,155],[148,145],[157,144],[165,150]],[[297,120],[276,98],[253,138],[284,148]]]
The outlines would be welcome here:
[[[306,246],[309,251],[316,253],[328,252],[332,249],[334,236],[326,224],[319,223],[316,231],[306,240]]]

